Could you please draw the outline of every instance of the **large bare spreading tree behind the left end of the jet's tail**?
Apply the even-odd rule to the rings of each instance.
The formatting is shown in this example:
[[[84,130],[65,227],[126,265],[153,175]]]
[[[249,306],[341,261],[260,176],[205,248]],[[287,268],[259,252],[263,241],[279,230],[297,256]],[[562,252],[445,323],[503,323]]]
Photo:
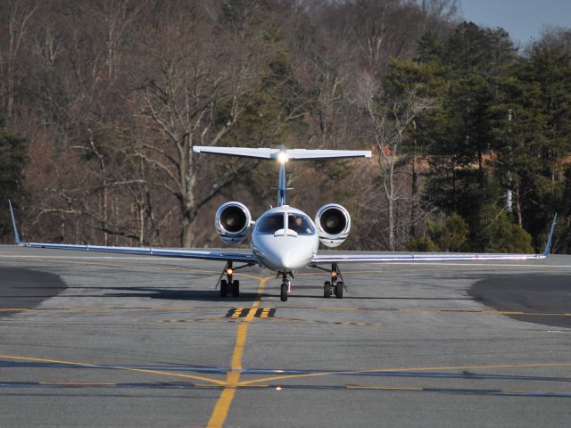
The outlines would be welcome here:
[[[244,99],[256,89],[259,66],[255,51],[231,34],[212,37],[204,23],[173,28],[170,46],[157,46],[157,60],[145,72],[137,119],[153,144],[139,143],[137,156],[161,171],[161,184],[178,200],[182,218],[180,244],[193,243],[191,226],[198,210],[219,190],[244,173],[245,165],[227,161],[211,185],[200,187],[201,161],[193,146],[216,145],[235,127]],[[166,48],[165,48],[166,47]],[[251,168],[251,167],[250,167]]]

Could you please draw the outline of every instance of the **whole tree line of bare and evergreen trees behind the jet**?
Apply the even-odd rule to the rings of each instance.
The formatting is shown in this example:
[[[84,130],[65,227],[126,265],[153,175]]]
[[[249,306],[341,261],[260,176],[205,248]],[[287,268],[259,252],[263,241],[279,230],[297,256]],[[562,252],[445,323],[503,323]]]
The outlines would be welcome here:
[[[343,203],[348,248],[534,251],[571,238],[571,30],[516,46],[455,0],[8,0],[0,201],[25,237],[219,246],[274,165],[194,145],[370,149],[288,166],[290,203]],[[10,242],[7,210],[0,236]]]

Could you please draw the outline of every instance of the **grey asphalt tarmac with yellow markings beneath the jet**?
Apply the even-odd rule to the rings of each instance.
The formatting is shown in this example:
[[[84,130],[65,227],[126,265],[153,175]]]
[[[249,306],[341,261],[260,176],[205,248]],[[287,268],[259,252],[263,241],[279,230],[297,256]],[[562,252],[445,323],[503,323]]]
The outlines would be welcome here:
[[[570,424],[569,256],[221,268],[0,246],[0,427]]]

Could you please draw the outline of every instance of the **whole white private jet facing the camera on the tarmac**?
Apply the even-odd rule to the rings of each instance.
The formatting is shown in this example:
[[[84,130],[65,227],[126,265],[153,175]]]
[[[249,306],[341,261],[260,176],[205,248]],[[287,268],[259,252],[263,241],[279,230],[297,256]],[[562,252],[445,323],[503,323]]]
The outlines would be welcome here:
[[[232,293],[240,295],[240,284],[233,279],[237,269],[261,265],[277,272],[282,277],[280,298],[287,300],[291,292],[290,278],[294,272],[302,268],[318,268],[330,274],[330,280],[324,283],[323,295],[335,294],[343,299],[343,276],[339,269],[342,263],[398,262],[398,261],[448,261],[448,260],[525,260],[545,259],[549,255],[551,239],[555,229],[556,218],[553,218],[550,234],[543,254],[490,254],[490,253],[393,253],[362,255],[352,252],[319,254],[319,243],[334,248],[345,241],[351,229],[351,217],[343,206],[327,203],[322,206],[313,221],[301,210],[287,205],[285,198],[285,164],[287,161],[326,160],[340,158],[358,158],[371,156],[369,151],[347,150],[306,150],[239,147],[206,147],[194,146],[194,152],[211,153],[244,158],[274,160],[279,164],[277,185],[277,207],[264,212],[256,221],[252,221],[250,210],[240,202],[226,202],[216,212],[214,221],[218,234],[224,243],[236,245],[248,236],[251,238],[251,251],[219,252],[196,250],[170,250],[141,247],[107,247],[99,245],[71,245],[62,243],[23,243],[16,226],[12,204],[12,226],[15,243],[30,248],[47,248],[59,250],[103,251],[123,254],[141,254],[183,259],[207,259],[225,261],[226,266],[219,276],[220,297]],[[234,263],[242,263],[235,267]],[[327,266],[325,268],[324,266]],[[330,267],[330,268],[328,268]],[[226,276],[226,279],[222,279]],[[217,283],[218,285],[218,283]]]

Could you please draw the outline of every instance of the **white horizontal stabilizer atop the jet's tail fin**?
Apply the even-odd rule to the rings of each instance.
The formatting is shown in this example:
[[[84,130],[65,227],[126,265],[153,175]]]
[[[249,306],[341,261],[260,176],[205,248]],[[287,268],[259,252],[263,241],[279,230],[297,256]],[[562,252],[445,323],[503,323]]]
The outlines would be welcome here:
[[[368,150],[309,150],[309,149],[269,149],[250,147],[208,147],[205,145],[195,145],[193,152],[221,154],[226,156],[237,156],[240,158],[281,160],[279,153],[285,153],[285,160],[303,161],[317,159],[341,159],[341,158],[370,158],[371,152]]]

